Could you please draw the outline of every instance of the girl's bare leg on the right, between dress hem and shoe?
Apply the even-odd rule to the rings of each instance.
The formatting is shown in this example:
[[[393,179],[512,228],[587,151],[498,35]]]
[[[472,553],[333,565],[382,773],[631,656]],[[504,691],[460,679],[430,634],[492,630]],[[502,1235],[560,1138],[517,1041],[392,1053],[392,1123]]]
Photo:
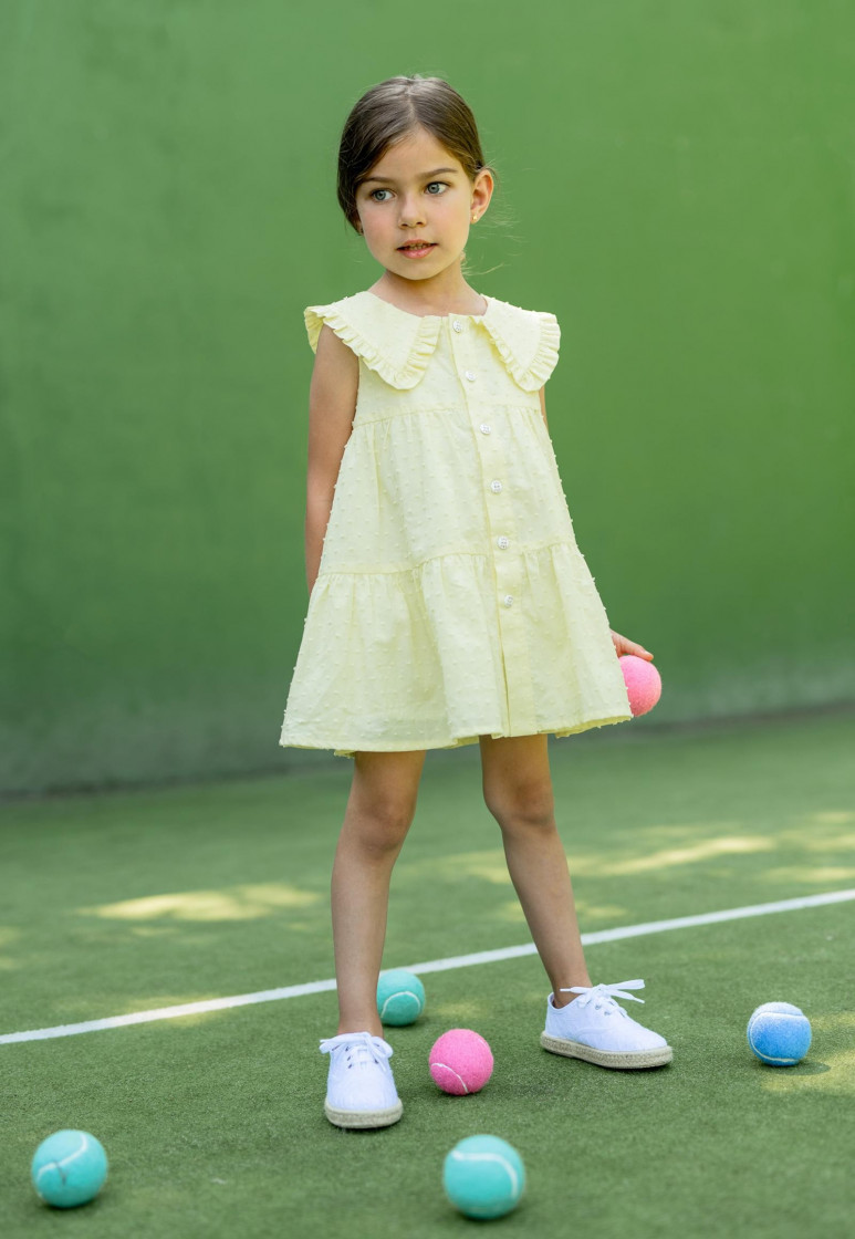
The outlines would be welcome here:
[[[555,803],[546,736],[481,736],[487,808],[502,828],[502,841],[532,938],[553,986],[554,1005],[590,985]]]

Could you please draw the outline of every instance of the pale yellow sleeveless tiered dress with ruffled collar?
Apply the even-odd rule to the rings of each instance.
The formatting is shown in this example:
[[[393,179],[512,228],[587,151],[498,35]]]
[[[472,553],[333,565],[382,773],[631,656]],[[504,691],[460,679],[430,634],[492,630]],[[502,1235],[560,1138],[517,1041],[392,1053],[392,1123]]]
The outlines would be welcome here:
[[[538,392],[554,315],[305,311],[359,359],[279,743],[390,752],[632,717]]]

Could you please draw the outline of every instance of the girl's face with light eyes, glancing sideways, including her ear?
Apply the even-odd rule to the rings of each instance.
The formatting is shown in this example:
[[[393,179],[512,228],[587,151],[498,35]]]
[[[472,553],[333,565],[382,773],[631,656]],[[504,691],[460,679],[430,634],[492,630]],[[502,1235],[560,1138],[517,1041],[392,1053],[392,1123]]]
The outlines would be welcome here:
[[[463,166],[426,129],[390,146],[357,190],[368,249],[388,271],[428,280],[460,264],[472,216],[493,192],[487,171],[470,181]]]

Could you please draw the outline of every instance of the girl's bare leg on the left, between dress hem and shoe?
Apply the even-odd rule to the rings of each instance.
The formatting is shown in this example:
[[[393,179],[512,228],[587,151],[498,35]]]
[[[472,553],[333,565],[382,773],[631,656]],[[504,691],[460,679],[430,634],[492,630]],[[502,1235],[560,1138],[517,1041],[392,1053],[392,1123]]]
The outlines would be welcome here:
[[[338,1032],[383,1035],[377,978],[392,867],[415,815],[425,751],[358,752],[332,867]]]

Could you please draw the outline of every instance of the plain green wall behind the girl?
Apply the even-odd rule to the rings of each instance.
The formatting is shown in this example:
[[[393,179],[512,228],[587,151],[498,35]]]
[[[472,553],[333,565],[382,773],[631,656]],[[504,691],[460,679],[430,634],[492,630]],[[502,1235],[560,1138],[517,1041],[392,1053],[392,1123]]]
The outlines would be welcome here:
[[[633,726],[855,699],[854,50],[843,0],[6,0],[0,788],[333,761],[278,746],[301,311],[375,278],[335,155],[400,72],[499,169],[472,282],[561,322],[576,535],[664,680]]]

